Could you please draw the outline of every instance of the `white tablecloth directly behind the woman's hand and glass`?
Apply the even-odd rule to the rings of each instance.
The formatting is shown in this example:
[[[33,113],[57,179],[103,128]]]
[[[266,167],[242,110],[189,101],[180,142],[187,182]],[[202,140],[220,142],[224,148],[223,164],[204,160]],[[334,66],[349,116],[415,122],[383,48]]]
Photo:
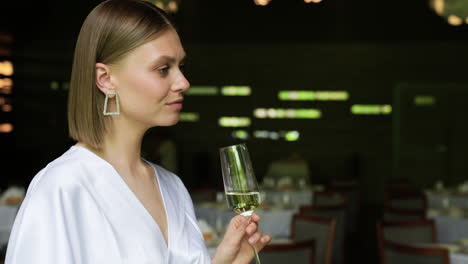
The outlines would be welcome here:
[[[265,234],[273,237],[288,238],[291,233],[292,216],[297,209],[268,209],[255,211],[261,218],[260,228]],[[195,214],[198,219],[204,219],[213,228],[217,225],[227,226],[236,214],[223,207],[195,206]]]

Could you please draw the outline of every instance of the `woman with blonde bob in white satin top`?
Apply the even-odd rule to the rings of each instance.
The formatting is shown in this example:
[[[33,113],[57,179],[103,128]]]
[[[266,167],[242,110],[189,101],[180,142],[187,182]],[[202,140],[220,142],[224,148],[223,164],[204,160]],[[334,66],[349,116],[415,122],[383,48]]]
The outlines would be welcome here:
[[[86,18],[68,102],[78,143],[31,182],[6,263],[209,263],[180,179],[140,157],[145,131],[177,123],[185,52],[163,11],[109,0]],[[212,263],[249,263],[270,237],[236,216]]]

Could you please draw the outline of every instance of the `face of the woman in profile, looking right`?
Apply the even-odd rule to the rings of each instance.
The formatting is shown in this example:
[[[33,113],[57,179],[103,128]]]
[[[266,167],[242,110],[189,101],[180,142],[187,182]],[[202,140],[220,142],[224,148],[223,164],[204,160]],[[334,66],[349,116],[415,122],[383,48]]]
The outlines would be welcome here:
[[[177,123],[182,93],[190,87],[181,71],[184,58],[179,36],[169,29],[112,65],[121,117],[146,128]]]

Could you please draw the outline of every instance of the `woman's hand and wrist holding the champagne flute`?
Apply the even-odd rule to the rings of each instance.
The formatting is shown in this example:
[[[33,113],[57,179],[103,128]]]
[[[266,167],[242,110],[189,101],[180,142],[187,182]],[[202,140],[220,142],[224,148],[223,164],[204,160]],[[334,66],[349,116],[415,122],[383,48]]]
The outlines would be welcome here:
[[[260,217],[253,213],[251,221],[247,217],[237,215],[231,219],[223,241],[216,249],[213,264],[248,264],[254,257],[251,247],[259,252],[271,241],[269,235],[262,235],[257,228]]]

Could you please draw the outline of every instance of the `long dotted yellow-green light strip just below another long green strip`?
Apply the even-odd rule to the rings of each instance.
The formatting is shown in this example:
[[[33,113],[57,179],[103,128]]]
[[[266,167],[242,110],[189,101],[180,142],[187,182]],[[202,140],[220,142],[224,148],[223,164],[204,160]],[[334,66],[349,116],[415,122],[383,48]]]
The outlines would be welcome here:
[[[254,110],[254,116],[271,119],[319,119],[322,112],[318,109],[257,108]]]

